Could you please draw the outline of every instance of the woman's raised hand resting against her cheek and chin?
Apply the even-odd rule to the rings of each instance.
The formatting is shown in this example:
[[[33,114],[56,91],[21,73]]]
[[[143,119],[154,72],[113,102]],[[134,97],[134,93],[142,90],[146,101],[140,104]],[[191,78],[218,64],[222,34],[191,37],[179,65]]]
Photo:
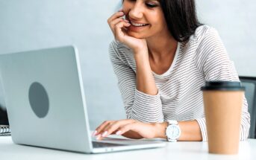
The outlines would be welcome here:
[[[110,26],[115,39],[128,45],[134,53],[143,49],[147,51],[146,39],[137,39],[128,35],[127,30],[131,24],[128,20],[122,18],[124,15],[125,13],[123,13],[122,10],[119,10],[119,12],[114,13],[107,19],[107,23]]]

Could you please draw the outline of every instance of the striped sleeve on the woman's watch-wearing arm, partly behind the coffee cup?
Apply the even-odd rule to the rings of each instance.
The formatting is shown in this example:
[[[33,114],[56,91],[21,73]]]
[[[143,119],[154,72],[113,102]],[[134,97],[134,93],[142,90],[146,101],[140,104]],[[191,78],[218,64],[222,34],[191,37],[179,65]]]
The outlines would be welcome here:
[[[205,38],[199,45],[202,68],[205,74],[205,80],[229,80],[239,81],[237,71],[234,64],[229,60],[228,54],[219,37],[219,34],[213,29],[208,29]],[[203,141],[207,141],[207,130],[205,118],[196,119],[202,132]],[[240,126],[240,140],[244,141],[248,138],[250,127],[250,115],[248,112],[248,104],[246,97],[243,98],[242,120]]]

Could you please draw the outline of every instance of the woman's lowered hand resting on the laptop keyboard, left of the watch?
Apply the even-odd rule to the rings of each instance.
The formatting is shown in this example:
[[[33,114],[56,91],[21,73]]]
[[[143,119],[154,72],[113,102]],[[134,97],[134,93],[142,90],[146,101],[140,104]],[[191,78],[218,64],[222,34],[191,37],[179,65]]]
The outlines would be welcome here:
[[[125,119],[119,121],[104,121],[96,128],[94,136],[101,140],[108,135],[123,135],[127,138],[156,138],[157,124],[143,123],[133,119]]]

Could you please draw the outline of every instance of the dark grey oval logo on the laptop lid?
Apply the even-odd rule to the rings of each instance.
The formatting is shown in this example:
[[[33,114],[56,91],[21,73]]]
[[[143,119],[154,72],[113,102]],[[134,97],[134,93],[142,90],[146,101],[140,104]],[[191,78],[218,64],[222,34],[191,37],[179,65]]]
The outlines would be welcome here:
[[[49,112],[49,97],[42,84],[34,82],[29,87],[28,99],[38,118],[45,118]]]

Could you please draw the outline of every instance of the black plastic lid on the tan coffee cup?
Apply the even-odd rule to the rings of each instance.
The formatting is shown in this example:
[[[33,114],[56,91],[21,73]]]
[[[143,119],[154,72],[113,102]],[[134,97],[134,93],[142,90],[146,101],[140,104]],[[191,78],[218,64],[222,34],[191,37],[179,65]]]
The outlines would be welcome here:
[[[245,87],[239,81],[207,81],[201,90],[244,91]]]

